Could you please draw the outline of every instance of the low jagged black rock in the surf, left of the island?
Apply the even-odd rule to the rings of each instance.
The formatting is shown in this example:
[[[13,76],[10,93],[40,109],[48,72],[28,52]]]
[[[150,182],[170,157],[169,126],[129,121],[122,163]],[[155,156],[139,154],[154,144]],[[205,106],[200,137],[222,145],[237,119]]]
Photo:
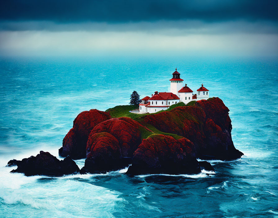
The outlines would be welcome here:
[[[40,151],[36,157],[24,158],[16,163],[17,169],[11,172],[24,173],[25,176],[62,176],[79,172],[78,166],[69,156],[64,160],[58,160],[49,152],[43,151]]]

